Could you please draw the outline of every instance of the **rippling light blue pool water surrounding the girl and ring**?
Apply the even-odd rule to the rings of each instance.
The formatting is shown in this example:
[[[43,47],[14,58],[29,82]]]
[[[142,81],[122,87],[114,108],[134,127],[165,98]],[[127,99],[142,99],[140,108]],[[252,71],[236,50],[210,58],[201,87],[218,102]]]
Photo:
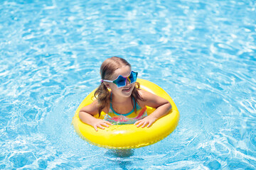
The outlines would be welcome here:
[[[2,0],[0,16],[0,169],[256,169],[254,0]],[[181,113],[129,157],[71,125],[113,55]]]

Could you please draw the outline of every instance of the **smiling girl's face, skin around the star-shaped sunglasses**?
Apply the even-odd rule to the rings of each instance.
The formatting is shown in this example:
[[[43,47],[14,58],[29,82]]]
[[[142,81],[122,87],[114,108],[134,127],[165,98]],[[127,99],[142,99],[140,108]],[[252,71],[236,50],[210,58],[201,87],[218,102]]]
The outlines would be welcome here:
[[[122,77],[129,77],[129,74],[131,73],[131,68],[129,66],[123,66],[120,67],[119,69],[114,71],[114,74],[112,75],[112,79],[117,79],[117,77],[119,77],[119,75],[121,75]],[[112,93],[115,96],[123,96],[123,97],[129,97],[132,94],[132,90],[134,89],[135,84],[130,84],[129,81],[127,80],[127,84],[126,86],[120,87],[118,88],[116,84],[113,83],[107,83],[108,87],[112,90]]]

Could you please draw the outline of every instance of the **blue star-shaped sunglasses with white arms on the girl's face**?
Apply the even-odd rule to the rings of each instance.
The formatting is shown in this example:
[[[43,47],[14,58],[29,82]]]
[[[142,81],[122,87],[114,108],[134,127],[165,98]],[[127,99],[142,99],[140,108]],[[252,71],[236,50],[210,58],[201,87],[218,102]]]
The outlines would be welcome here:
[[[106,82],[117,84],[117,87],[120,88],[122,86],[126,86],[127,80],[129,81],[130,84],[135,83],[135,81],[137,80],[137,76],[138,76],[138,72],[132,71],[128,77],[122,77],[121,75],[119,75],[117,77],[117,79],[114,79],[113,81],[105,80],[105,79],[102,79],[101,81],[106,81]]]

